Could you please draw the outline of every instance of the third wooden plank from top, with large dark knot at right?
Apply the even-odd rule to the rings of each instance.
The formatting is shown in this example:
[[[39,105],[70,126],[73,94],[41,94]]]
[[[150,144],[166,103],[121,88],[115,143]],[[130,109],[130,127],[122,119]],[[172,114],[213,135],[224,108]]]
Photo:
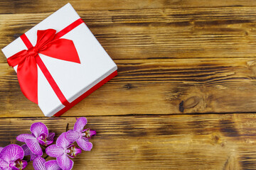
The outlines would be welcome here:
[[[63,116],[255,112],[256,60],[117,60],[119,74]],[[100,107],[99,107],[100,106]],[[0,64],[0,117],[43,116]]]

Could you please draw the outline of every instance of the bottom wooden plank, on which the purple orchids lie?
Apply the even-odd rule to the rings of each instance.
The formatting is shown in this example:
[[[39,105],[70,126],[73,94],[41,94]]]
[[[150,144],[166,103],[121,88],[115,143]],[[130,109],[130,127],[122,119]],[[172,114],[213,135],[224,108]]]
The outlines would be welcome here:
[[[88,117],[87,128],[97,130],[94,147],[73,159],[73,169],[256,169],[255,119],[255,114]],[[67,124],[73,128],[75,118],[1,118],[0,146],[21,145],[16,136],[35,122],[59,136]]]

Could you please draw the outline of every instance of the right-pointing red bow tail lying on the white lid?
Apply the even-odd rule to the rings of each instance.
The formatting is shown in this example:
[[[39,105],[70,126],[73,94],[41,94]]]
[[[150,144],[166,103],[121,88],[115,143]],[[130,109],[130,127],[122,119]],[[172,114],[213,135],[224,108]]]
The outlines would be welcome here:
[[[59,60],[80,64],[78,52],[72,40],[64,38],[53,40],[41,49],[39,53]]]

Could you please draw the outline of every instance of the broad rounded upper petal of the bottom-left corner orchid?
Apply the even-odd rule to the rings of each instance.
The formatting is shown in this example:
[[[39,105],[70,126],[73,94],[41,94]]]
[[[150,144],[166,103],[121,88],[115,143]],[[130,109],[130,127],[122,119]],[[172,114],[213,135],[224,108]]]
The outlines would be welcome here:
[[[1,159],[4,159],[6,162],[14,162],[17,159],[23,159],[24,151],[21,146],[11,144],[4,147],[1,151]]]

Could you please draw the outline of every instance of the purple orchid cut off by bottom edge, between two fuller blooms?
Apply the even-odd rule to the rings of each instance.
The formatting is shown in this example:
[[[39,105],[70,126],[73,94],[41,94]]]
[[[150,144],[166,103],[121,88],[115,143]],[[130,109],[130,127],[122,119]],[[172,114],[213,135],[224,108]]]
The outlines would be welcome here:
[[[36,159],[34,159],[33,168],[35,170],[62,170],[56,160],[46,162],[42,157],[36,157]]]

